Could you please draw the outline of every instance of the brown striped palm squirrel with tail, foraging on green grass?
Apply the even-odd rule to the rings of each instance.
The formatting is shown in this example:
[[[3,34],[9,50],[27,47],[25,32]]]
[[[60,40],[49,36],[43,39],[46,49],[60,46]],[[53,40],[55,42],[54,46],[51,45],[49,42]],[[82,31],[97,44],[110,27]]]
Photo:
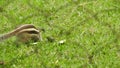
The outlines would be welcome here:
[[[16,36],[16,41],[21,43],[28,43],[30,41],[37,42],[42,40],[40,30],[33,24],[24,24],[6,34],[3,34],[0,36],[0,42],[13,36]]]

